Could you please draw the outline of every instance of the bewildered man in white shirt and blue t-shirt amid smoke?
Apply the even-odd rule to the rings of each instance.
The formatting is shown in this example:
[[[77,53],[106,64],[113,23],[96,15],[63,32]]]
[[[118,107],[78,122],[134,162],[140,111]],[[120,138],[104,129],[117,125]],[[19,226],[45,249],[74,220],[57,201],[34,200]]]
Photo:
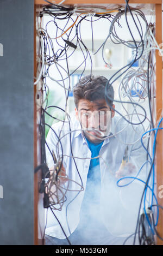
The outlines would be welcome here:
[[[135,231],[143,186],[126,178],[118,187],[117,181],[146,179],[146,170],[139,172],[146,161],[143,132],[115,117],[112,86],[105,101],[107,83],[103,76],[83,78],[73,91],[76,118],[54,124],[47,135],[48,167],[55,169],[52,155],[62,165],[50,199],[61,209],[54,210],[57,219],[48,209],[46,244],[66,245],[66,235],[73,245],[122,245]]]

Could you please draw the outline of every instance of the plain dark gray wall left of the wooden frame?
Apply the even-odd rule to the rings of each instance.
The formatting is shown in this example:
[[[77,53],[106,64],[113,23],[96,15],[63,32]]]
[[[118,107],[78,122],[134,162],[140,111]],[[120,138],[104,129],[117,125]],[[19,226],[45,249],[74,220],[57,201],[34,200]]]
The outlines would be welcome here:
[[[33,42],[34,0],[0,0],[1,245],[33,244]]]

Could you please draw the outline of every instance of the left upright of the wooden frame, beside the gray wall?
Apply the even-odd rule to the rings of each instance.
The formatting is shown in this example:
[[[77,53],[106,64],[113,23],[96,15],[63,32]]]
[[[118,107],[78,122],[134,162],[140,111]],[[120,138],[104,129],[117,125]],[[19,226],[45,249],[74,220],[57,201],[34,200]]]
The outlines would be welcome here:
[[[36,41],[36,5],[35,5],[35,16],[34,16],[34,77],[37,77],[37,66],[36,55],[39,51],[39,43]],[[35,81],[35,80],[34,80]],[[37,92],[37,87],[34,85],[34,169],[37,165],[41,164],[41,142],[39,132],[39,120],[40,120],[40,109],[36,104],[36,93],[41,100],[42,90]],[[41,103],[41,101],[40,101]],[[45,241],[43,238],[43,231],[45,228],[44,212],[43,208],[43,194],[39,193],[39,186],[41,182],[41,170],[34,174],[34,245],[42,245]]]

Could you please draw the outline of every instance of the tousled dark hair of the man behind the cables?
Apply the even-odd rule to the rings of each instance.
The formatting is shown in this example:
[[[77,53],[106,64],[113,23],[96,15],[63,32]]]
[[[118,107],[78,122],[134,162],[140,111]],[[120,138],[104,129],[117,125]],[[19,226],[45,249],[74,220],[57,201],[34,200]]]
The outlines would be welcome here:
[[[87,75],[81,79],[73,89],[74,103],[78,109],[80,99],[87,99],[90,102],[105,99],[105,86],[108,79],[104,76]],[[114,89],[112,85],[108,86],[107,95],[112,99],[108,99],[108,104],[112,106],[114,100]]]

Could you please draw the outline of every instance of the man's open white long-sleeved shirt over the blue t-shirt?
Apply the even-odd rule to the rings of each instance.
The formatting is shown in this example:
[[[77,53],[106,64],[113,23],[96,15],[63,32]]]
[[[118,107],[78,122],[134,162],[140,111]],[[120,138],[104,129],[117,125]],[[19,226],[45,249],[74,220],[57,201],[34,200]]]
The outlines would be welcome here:
[[[71,118],[70,124],[71,130],[76,130],[71,133],[73,156],[81,159],[68,157],[71,156],[70,133],[67,134],[70,132],[68,123],[65,123],[64,127],[62,127],[62,122],[58,122],[52,125],[52,129],[55,130],[55,133],[58,136],[60,134],[60,138],[67,134],[60,139],[62,150],[59,142],[59,153],[61,156],[61,152],[63,151],[63,164],[68,177],[85,188],[90,165],[89,158],[91,157],[91,151],[87,146],[87,142],[81,130],[78,130],[81,129],[81,127],[80,123],[76,120],[76,117]],[[49,148],[54,150],[55,156],[57,156],[56,145],[58,138],[52,129],[49,129],[46,142]],[[134,129],[136,132],[134,132]],[[101,156],[99,158],[101,171],[100,211],[105,227],[108,229],[109,233],[114,236],[128,236],[135,232],[137,213],[139,211],[140,198],[144,187],[143,183],[135,180],[129,186],[120,188],[117,186],[117,178],[115,177],[115,172],[120,168],[127,144],[129,144],[129,162],[132,162],[136,166],[137,171],[139,171],[141,165],[146,161],[146,151],[142,147],[140,141],[143,130],[141,126],[134,126],[134,129],[130,124],[124,121],[123,118],[111,118],[110,138],[104,140],[99,152],[99,155]],[[120,132],[121,130],[122,132]],[[135,141],[137,142],[133,144]],[[54,162],[47,147],[46,157],[48,167],[51,168],[54,166]],[[74,160],[76,164],[74,163]],[[146,169],[145,165],[141,170],[140,175],[137,176],[144,181],[147,177]],[[67,222],[71,233],[73,233],[78,226],[80,207],[85,193],[85,191],[74,192],[73,190],[80,190],[81,186],[73,181],[70,182],[69,189],[71,191],[67,191],[66,193],[66,201],[62,206],[62,210],[54,211],[67,236],[70,235]],[[129,180],[126,180],[125,182],[128,183]],[[77,194],[78,196],[76,197]],[[74,197],[76,198],[74,199]],[[71,200],[73,201],[70,203]],[[70,204],[67,207],[66,221],[66,206],[68,203]],[[60,225],[49,209],[45,234],[59,239],[65,239],[65,235],[62,232]]]

